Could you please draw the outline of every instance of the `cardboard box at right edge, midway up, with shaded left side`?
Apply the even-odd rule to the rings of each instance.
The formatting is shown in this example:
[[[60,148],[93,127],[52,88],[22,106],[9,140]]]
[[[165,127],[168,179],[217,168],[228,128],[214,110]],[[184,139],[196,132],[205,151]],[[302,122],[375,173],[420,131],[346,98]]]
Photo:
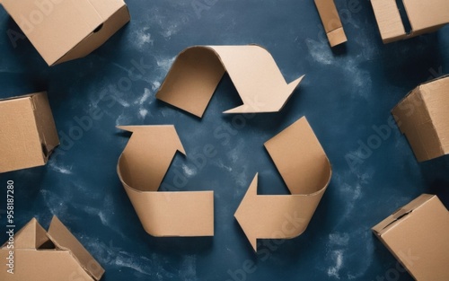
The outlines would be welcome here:
[[[449,75],[420,84],[392,110],[419,162],[449,154]]]

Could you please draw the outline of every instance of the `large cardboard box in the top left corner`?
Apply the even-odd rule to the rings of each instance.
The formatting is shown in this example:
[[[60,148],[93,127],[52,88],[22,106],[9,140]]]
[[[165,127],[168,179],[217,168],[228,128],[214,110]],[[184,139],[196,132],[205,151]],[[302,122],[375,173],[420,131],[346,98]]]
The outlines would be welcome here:
[[[123,0],[3,0],[48,66],[89,55],[130,16]]]

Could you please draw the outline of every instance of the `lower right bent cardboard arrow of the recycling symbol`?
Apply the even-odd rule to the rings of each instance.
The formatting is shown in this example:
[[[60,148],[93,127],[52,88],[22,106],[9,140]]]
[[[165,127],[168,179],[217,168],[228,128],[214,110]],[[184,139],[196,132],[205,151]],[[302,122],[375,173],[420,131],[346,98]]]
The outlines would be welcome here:
[[[252,180],[234,216],[256,251],[258,239],[291,239],[304,233],[331,177],[329,159],[305,118],[265,147],[291,195],[257,195],[258,175]]]

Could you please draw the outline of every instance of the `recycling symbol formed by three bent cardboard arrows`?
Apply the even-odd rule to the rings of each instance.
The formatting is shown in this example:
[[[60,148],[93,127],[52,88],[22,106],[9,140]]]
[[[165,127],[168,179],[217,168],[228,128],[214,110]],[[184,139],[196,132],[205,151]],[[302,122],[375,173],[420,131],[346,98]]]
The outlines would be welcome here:
[[[194,53],[197,51],[201,53],[201,50],[204,49],[205,48],[189,48],[188,50],[193,51]],[[223,57],[228,56],[225,58],[225,61],[232,61],[233,59],[238,61],[243,58],[239,57],[242,53],[246,53],[250,49],[257,50],[261,48],[257,46],[243,46],[235,48],[214,47],[214,49]],[[235,57],[238,59],[235,57],[231,59],[231,55],[233,54],[231,50],[236,50]],[[229,54],[226,53],[227,51],[229,51]],[[264,52],[267,51],[264,50]],[[189,52],[186,51],[186,54],[187,53]],[[258,51],[256,51],[256,53],[258,53]],[[182,55],[180,55],[180,57],[181,56]],[[267,58],[266,56],[262,57],[262,61]],[[201,61],[202,60],[200,60],[200,62]],[[202,61],[200,65],[206,62],[207,60]],[[177,63],[175,62],[175,65],[176,64]],[[178,64],[181,63],[178,62]],[[224,63],[224,66],[228,69],[228,72],[230,72],[230,68],[227,68],[228,65],[226,63]],[[269,64],[269,66],[273,65]],[[276,66],[276,64],[274,64],[274,66]],[[176,67],[180,69],[173,71]],[[244,71],[244,69],[245,66],[242,66],[240,71]],[[173,72],[176,73],[175,76],[177,79],[170,77],[171,75],[174,75]],[[180,75],[180,73],[182,75]],[[189,83],[189,79],[184,76],[188,73],[191,75],[194,71],[191,71],[190,69],[189,72],[186,72],[181,66],[173,66],[172,71],[167,76],[167,80],[180,79],[181,83]],[[280,74],[278,69],[277,73]],[[220,75],[220,79],[222,75],[223,72]],[[261,77],[258,76],[258,72],[251,74],[251,77],[254,78],[252,82],[268,79],[267,77],[261,79]],[[247,78],[250,79],[249,77]],[[302,78],[299,78],[295,82],[295,87],[301,79]],[[207,83],[207,79],[202,81],[203,83]],[[211,90],[213,93],[218,81],[215,81],[212,84],[207,83],[208,86],[200,90],[206,92]],[[239,81],[242,81],[242,79]],[[195,86],[199,86],[197,83],[198,81],[194,83]],[[165,86],[163,85],[161,87],[160,93],[166,91],[167,87],[172,90],[173,87],[179,87],[177,83],[173,83],[171,86],[167,86],[167,84],[169,84],[167,82],[164,84]],[[236,84],[236,87],[239,90],[239,87],[237,86],[239,83],[235,83],[234,81],[234,84]],[[251,84],[251,82],[248,84]],[[187,85],[184,84],[184,86],[186,87]],[[295,87],[290,88],[289,91],[293,92]],[[245,89],[249,90],[250,88]],[[274,88],[269,89],[273,90]],[[180,88],[178,90],[180,90]],[[186,96],[189,91],[189,89],[185,91]],[[287,98],[291,92],[288,93]],[[212,93],[208,95],[209,100]],[[258,92],[255,91],[251,94],[245,92],[245,94],[248,95],[242,95],[242,92],[240,91],[239,93],[242,96],[244,104],[242,107],[237,108],[237,110],[231,111],[250,112],[251,109],[254,108],[251,108],[251,105],[248,107],[249,104],[246,103],[248,100],[245,100],[243,96],[247,98],[251,96],[254,98],[257,97]],[[261,94],[263,95],[264,93]],[[164,92],[162,95],[165,97],[171,96],[169,92]],[[180,95],[176,94],[175,96],[180,97]],[[161,96],[158,98],[160,97]],[[284,98],[285,96],[281,97]],[[172,101],[177,101],[177,98]],[[254,99],[252,101],[254,101]],[[183,109],[190,110],[189,112],[193,114],[198,113],[198,116],[202,116],[204,110],[206,110],[207,102],[204,103],[202,107],[196,109],[189,108],[189,106],[184,107]],[[179,105],[183,106],[186,105],[186,103],[181,102]],[[280,108],[278,110],[280,110]],[[180,138],[176,133],[175,127],[124,126],[119,128],[132,132],[133,134],[128,145],[125,147],[125,150],[119,157],[117,172],[145,231],[153,236],[165,237],[213,236],[213,191],[158,192],[165,173],[170,168],[174,155],[177,152],[186,154],[180,142]],[[257,239],[290,239],[303,233],[311,221],[324,191],[329,185],[331,176],[329,159],[322,149],[319,140],[313,133],[312,127],[310,127],[305,118],[297,120],[293,125],[287,127],[277,136],[271,138],[265,143],[265,147],[275,163],[277,170],[286,182],[286,186],[290,190],[291,195],[257,195],[258,175],[256,174],[254,180],[252,180],[250,188],[242,199],[242,203],[234,216],[242,226],[242,230],[251,242],[253,249],[256,251]]]

